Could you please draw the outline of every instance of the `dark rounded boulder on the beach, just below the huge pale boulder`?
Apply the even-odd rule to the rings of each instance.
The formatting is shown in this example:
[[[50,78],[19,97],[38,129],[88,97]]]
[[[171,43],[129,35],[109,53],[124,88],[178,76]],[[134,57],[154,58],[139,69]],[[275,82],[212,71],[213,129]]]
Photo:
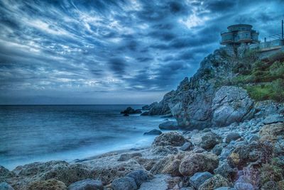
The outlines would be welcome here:
[[[201,139],[200,147],[204,150],[211,150],[215,145],[222,143],[222,137],[213,132],[204,133]]]

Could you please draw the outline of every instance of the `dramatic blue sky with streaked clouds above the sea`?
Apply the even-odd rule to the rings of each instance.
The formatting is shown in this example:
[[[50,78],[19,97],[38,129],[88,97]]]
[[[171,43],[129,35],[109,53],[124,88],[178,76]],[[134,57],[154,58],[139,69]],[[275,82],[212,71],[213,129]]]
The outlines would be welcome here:
[[[0,0],[0,104],[150,104],[220,32],[280,33],[284,1]],[[269,39],[269,38],[268,38]]]

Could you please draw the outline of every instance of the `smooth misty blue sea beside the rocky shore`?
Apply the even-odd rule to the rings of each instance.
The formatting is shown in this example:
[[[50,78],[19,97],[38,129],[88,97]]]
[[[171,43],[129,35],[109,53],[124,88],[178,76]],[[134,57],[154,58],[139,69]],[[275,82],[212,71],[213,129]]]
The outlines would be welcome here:
[[[127,106],[0,106],[0,164],[72,161],[112,150],[151,145],[164,118],[122,116]]]

